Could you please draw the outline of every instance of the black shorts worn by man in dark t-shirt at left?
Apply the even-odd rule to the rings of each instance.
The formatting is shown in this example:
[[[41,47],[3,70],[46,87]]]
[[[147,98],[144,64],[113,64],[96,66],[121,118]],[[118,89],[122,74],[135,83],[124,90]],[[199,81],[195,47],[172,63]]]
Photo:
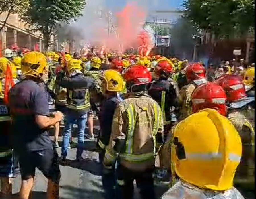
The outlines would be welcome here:
[[[36,168],[38,168],[46,178],[55,183],[59,182],[60,170],[55,149],[19,153],[19,162],[22,180],[34,177]]]

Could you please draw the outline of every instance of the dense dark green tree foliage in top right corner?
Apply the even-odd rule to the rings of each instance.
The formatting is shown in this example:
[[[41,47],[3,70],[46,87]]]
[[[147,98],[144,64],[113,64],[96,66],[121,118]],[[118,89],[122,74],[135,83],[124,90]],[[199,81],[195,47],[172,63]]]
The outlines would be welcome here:
[[[245,36],[254,27],[253,0],[185,0],[185,17],[217,38]]]

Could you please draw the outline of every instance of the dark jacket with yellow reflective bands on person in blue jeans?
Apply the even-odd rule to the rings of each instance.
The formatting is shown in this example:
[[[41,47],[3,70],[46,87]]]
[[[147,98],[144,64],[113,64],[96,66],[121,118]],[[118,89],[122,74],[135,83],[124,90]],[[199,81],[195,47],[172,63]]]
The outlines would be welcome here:
[[[90,108],[89,89],[93,87],[93,80],[77,73],[70,78],[58,80],[58,85],[67,88],[67,104],[69,110],[84,114]]]

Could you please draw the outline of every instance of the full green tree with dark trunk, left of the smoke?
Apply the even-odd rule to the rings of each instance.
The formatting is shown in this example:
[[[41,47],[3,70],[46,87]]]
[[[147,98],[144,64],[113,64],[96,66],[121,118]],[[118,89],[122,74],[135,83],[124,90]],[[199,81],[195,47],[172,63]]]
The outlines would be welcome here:
[[[30,7],[21,19],[41,31],[44,36],[45,49],[60,22],[69,23],[82,16],[86,0],[30,0]]]

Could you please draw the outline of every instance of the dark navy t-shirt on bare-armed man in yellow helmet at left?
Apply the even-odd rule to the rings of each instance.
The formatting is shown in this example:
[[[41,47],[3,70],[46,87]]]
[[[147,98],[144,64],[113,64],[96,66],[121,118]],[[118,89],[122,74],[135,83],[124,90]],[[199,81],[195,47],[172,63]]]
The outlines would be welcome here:
[[[11,88],[9,105],[13,117],[13,147],[38,151],[52,147],[47,129],[41,129],[35,115],[49,116],[48,94],[32,80],[23,80]]]

